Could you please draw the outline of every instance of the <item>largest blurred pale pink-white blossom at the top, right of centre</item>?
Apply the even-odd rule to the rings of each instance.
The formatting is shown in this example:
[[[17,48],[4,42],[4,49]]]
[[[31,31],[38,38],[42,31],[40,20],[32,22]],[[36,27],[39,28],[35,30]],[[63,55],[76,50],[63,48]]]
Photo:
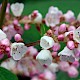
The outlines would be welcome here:
[[[45,17],[46,25],[54,27],[56,24],[59,24],[61,15],[62,12],[57,7],[51,6]]]

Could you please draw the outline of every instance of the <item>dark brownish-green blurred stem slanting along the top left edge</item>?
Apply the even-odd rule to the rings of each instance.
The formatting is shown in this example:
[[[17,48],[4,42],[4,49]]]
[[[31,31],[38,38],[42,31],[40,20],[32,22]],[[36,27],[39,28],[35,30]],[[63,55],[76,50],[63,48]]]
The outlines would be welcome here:
[[[8,0],[4,0],[2,3],[2,8],[0,12],[0,28],[2,28],[2,24],[5,18],[5,12],[6,12],[6,6],[7,6]]]

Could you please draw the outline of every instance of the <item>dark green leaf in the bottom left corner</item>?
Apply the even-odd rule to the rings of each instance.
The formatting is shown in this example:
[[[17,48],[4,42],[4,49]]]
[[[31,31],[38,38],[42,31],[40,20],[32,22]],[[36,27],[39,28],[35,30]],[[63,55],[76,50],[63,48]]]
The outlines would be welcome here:
[[[0,80],[18,80],[18,78],[12,72],[0,67]]]

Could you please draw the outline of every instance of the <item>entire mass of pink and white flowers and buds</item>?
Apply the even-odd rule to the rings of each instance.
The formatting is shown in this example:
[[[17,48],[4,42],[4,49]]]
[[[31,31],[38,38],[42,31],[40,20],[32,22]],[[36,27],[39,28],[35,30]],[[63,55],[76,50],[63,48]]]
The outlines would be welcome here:
[[[13,15],[10,14],[10,9]],[[7,5],[5,21],[2,30],[0,29],[0,59],[4,55],[8,55],[9,59],[2,62],[1,66],[15,74],[29,76],[31,80],[56,80],[58,70],[67,72],[72,78],[77,77],[80,59],[80,14],[76,19],[71,10],[63,14],[57,7],[51,6],[43,19],[38,10],[21,16],[23,9],[23,3]],[[21,36],[24,30],[31,28],[30,24],[37,25],[40,33],[42,24],[50,29],[39,41],[25,44]],[[12,38],[14,43],[11,42]],[[60,42],[65,44],[62,50],[63,45]],[[33,47],[38,43],[41,51]]]

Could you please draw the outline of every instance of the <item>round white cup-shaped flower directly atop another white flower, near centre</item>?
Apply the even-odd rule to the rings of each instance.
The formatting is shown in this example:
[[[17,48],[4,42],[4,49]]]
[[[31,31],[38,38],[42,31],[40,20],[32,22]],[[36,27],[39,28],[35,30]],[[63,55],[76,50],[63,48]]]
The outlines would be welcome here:
[[[40,46],[43,49],[49,49],[54,45],[54,40],[52,37],[49,36],[43,36],[40,40]]]

